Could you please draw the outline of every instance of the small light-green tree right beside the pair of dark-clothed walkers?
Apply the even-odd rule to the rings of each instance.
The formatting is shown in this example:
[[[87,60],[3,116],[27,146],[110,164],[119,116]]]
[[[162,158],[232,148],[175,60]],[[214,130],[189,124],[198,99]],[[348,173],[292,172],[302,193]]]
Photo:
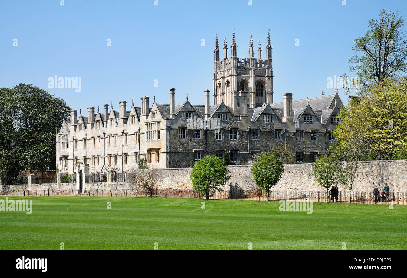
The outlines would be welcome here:
[[[322,155],[313,163],[313,176],[317,183],[326,190],[326,202],[330,187],[337,183],[338,175],[336,172],[335,161],[331,156]]]

